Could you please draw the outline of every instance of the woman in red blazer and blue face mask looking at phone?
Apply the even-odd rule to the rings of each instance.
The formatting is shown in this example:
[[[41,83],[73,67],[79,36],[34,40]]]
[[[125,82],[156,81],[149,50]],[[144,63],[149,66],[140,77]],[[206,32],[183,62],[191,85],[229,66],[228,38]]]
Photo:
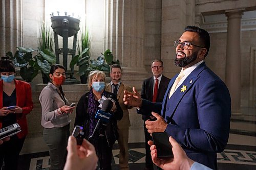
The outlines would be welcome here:
[[[0,60],[0,128],[18,123],[21,132],[0,145],[0,169],[5,160],[5,169],[17,169],[18,156],[28,134],[26,115],[33,109],[31,86],[24,81],[15,80],[15,68],[6,57]],[[15,106],[7,110],[8,106]]]

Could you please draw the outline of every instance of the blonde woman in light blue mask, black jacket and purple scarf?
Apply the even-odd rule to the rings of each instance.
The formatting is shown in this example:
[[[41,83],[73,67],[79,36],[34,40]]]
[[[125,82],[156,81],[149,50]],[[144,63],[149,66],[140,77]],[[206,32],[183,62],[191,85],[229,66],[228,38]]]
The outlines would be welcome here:
[[[105,74],[103,71],[94,70],[90,72],[88,87],[89,92],[83,94],[76,107],[75,126],[84,127],[84,138],[88,139],[93,134],[93,131],[98,123],[95,118],[96,113],[101,108],[99,107],[102,100],[110,99],[113,101],[113,107],[109,111],[111,118],[106,126],[102,125],[95,137],[91,138],[90,142],[94,145],[98,155],[98,167],[102,169],[111,169],[112,149],[113,144],[118,138],[116,120],[120,120],[123,116],[123,111],[119,106],[116,96],[104,90]]]

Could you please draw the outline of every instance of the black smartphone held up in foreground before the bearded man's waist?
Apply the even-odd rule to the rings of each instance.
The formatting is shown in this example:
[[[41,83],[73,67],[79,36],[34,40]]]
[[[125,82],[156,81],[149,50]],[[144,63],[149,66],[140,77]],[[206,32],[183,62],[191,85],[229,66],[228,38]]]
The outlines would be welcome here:
[[[152,133],[153,143],[157,148],[157,157],[166,158],[173,157],[172,145],[169,142],[168,134],[166,132]]]

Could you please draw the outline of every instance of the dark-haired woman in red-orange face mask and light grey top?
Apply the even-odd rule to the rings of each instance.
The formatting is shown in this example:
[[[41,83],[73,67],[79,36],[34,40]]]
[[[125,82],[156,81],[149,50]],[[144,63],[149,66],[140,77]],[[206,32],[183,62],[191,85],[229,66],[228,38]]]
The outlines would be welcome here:
[[[69,114],[74,107],[69,106],[61,87],[66,80],[65,67],[53,65],[49,76],[51,82],[39,95],[42,108],[41,126],[44,127],[43,138],[50,151],[51,169],[63,169],[70,136]]]

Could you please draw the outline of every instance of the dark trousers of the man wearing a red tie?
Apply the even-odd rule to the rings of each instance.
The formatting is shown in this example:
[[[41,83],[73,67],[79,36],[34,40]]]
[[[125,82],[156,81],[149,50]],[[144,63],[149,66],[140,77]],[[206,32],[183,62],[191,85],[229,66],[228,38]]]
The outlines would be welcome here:
[[[144,121],[144,135],[145,135],[145,150],[146,150],[146,167],[153,169],[153,161],[151,158],[150,145],[147,144],[148,140],[152,140],[150,133],[147,132],[145,121]]]

